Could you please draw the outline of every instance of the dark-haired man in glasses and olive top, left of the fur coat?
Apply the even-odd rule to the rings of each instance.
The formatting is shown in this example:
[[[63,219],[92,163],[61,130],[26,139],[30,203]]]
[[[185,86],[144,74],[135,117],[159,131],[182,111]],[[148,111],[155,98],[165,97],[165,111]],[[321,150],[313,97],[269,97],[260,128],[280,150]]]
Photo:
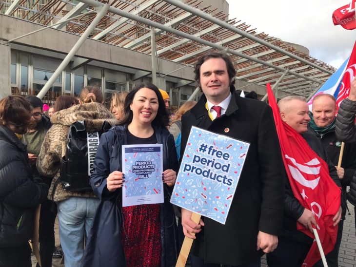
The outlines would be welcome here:
[[[28,132],[22,135],[22,142],[27,144],[28,158],[30,159],[33,174],[40,176],[43,182],[50,186],[53,177],[40,175],[36,167],[36,161],[37,156],[40,154],[44,136],[51,128],[51,122],[49,118],[43,114],[43,103],[40,98],[35,95],[27,95],[25,99],[32,107],[32,117]],[[55,247],[54,225],[57,211],[51,209],[52,205],[53,202],[48,199],[41,203],[39,242],[42,267],[52,266],[53,255],[59,255],[58,257],[61,257],[60,250]],[[37,267],[39,266],[39,263],[37,263]]]

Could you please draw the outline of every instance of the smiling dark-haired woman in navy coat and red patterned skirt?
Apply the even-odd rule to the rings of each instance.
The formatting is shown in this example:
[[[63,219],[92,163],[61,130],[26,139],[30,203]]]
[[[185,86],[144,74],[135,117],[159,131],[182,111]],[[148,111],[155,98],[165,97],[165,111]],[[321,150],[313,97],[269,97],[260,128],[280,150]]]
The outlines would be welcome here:
[[[175,266],[177,225],[169,200],[178,160],[158,88],[149,82],[136,85],[124,113],[121,124],[100,139],[90,183],[101,201],[81,266]],[[164,203],[122,207],[121,146],[127,144],[163,145]]]

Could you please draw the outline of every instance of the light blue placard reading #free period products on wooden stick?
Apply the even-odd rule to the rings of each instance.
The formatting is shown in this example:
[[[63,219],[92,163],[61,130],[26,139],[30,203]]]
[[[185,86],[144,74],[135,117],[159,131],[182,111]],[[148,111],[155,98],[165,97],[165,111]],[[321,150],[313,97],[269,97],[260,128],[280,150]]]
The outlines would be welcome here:
[[[225,224],[249,146],[193,126],[171,203]]]

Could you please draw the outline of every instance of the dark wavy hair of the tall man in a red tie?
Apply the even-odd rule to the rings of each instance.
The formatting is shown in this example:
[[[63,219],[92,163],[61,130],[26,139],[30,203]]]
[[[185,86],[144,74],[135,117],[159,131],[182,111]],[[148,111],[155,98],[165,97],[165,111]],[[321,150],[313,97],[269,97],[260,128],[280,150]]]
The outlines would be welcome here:
[[[194,67],[195,80],[200,86],[200,67],[201,65],[210,58],[221,58],[226,63],[227,74],[229,75],[230,85],[235,84],[236,69],[230,57],[226,53],[210,52],[198,57],[197,63]]]

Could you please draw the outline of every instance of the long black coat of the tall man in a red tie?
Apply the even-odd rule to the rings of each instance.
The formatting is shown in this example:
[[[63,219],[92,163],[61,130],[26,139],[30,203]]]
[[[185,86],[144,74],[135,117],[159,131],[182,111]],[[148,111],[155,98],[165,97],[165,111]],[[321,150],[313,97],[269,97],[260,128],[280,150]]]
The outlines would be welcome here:
[[[231,87],[226,113],[212,121],[202,95],[182,117],[181,155],[191,130],[208,131],[250,142],[237,190],[222,225],[204,218],[205,226],[193,243],[194,255],[205,263],[243,265],[257,260],[258,231],[277,235],[282,227],[284,167],[271,108],[264,102],[243,98]]]

